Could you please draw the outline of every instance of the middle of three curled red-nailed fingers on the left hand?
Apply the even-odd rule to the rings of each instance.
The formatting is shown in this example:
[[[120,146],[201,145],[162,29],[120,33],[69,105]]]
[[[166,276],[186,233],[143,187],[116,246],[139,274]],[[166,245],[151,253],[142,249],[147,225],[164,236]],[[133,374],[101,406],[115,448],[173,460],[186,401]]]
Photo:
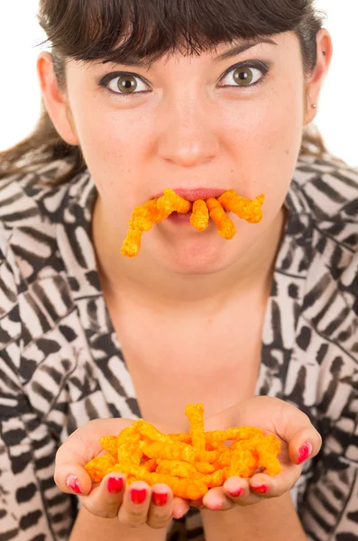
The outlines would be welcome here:
[[[118,520],[127,526],[142,526],[147,522],[151,504],[151,487],[144,481],[134,481],[124,492]]]

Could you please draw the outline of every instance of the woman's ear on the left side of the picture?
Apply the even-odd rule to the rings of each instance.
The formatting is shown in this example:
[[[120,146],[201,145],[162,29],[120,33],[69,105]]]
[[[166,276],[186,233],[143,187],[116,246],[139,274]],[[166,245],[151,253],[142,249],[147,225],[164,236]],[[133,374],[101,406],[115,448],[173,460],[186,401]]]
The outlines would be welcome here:
[[[78,134],[67,96],[61,92],[58,85],[50,52],[42,51],[40,53],[37,59],[37,74],[42,98],[56,131],[65,142],[78,145]]]

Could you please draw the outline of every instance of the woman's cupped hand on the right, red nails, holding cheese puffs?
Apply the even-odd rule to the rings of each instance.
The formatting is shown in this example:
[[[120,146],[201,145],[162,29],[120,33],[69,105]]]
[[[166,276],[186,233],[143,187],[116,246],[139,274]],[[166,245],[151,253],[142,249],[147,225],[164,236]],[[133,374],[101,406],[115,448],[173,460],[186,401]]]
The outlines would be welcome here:
[[[208,491],[202,501],[191,502],[191,505],[200,509],[227,510],[281,496],[298,481],[302,470],[300,464],[315,456],[322,445],[321,436],[306,414],[273,397],[253,397],[206,419],[206,431],[243,425],[258,426],[264,434],[280,438],[281,472],[276,476],[256,473],[250,479],[230,477],[223,487]]]

